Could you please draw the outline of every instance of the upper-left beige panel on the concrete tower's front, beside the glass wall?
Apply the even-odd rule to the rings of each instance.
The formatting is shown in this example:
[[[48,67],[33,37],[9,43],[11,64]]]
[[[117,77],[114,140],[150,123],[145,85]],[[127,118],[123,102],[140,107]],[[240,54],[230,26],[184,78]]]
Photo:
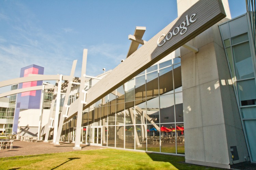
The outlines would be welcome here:
[[[182,79],[183,90],[199,85],[197,58],[195,55],[190,52],[181,57],[182,77],[189,77],[189,79]]]

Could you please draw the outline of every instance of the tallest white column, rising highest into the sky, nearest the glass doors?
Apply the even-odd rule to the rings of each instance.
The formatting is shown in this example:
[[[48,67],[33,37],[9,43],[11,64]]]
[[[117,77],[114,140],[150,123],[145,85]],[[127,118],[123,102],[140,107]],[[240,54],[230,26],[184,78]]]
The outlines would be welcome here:
[[[86,72],[86,61],[87,61],[87,49],[83,51],[83,62],[82,62],[82,71],[81,71],[81,85],[79,89],[79,98],[78,100],[78,109],[77,109],[77,121],[76,121],[76,135],[75,135],[75,147],[74,150],[81,150],[80,147],[81,143],[81,126],[82,126],[82,117],[83,117],[83,106],[85,103],[85,91],[84,91],[84,84],[85,84],[85,77],[84,74]]]

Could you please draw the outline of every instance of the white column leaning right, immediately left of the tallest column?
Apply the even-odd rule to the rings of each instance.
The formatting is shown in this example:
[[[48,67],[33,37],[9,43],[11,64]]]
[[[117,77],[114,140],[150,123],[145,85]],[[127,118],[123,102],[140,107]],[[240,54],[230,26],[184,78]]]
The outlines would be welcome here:
[[[66,96],[65,96],[65,99],[64,99],[63,108],[62,108],[62,111],[60,113],[57,138],[56,138],[56,142],[54,143],[54,145],[59,145],[59,140],[60,140],[60,135],[61,135],[61,132],[62,132],[63,122],[65,120],[65,116],[67,115],[66,113],[68,113],[69,94],[70,94],[71,87],[72,87],[72,81],[73,81],[73,77],[74,77],[74,73],[75,73],[76,63],[77,63],[77,60],[74,60],[72,68],[71,68],[71,72],[70,72],[70,78],[68,80],[69,82],[68,82],[68,87],[67,87],[67,90],[66,90]]]

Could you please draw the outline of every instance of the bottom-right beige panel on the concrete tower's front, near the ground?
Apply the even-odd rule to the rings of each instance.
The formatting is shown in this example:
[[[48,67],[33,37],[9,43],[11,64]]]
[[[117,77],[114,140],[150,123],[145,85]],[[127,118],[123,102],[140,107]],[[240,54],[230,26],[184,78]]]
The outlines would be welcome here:
[[[225,124],[203,127],[205,162],[229,164]]]

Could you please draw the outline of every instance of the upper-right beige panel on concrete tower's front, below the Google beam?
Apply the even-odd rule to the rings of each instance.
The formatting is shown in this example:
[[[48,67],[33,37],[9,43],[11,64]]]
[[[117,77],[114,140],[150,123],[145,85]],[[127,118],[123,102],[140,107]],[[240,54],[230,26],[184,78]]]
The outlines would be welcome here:
[[[214,43],[199,48],[199,51],[200,53],[196,53],[199,84],[218,79]]]

